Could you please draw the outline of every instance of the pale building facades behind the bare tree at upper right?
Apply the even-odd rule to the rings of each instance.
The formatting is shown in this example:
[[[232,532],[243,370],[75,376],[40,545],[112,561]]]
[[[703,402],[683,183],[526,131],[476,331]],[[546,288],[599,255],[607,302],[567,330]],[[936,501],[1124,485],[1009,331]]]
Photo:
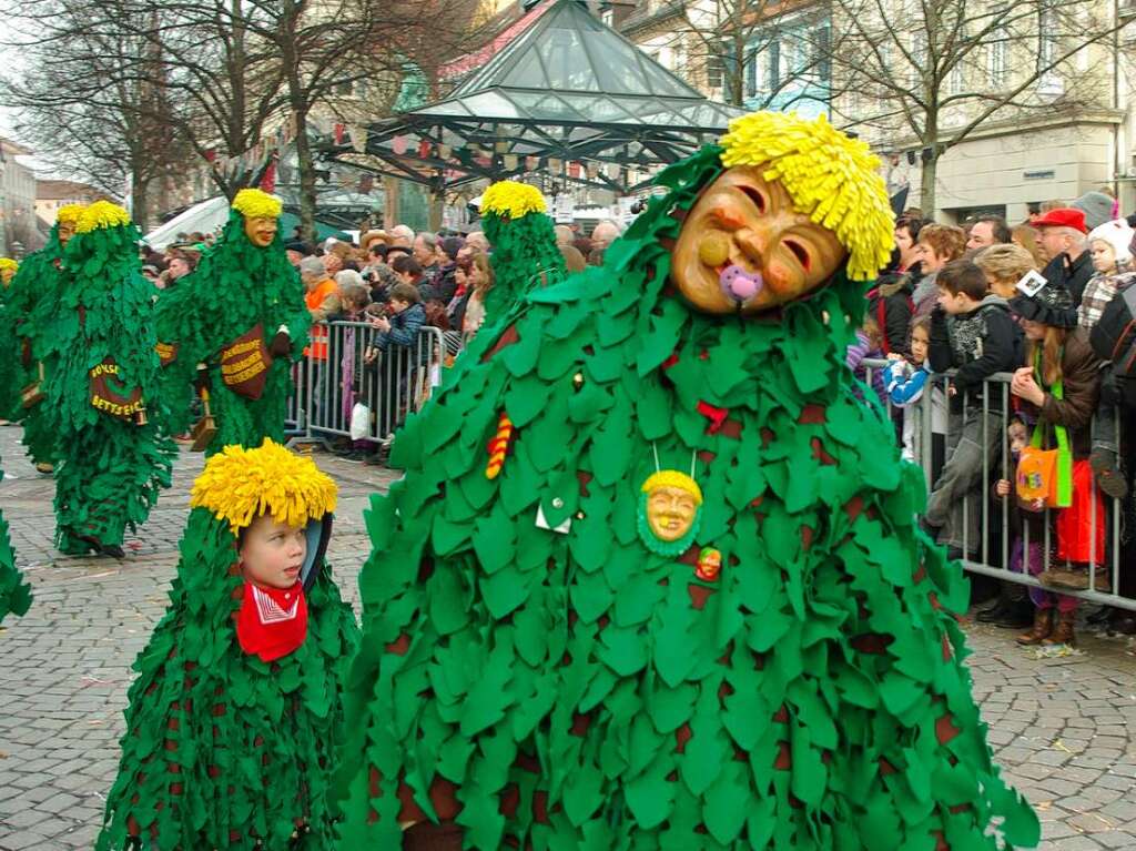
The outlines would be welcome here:
[[[922,87],[933,87],[934,100],[953,101],[935,110],[935,137],[946,150],[935,162],[935,209],[925,214],[938,220],[995,212],[1021,222],[1042,202],[1068,203],[1093,190],[1117,195],[1122,210],[1136,209],[1136,24],[1128,23],[1136,20],[1136,0],[1118,7],[1100,0],[1049,6],[1035,0],[1035,14],[1018,5],[1005,27],[982,31],[980,47],[960,53],[941,77],[929,70],[936,58],[926,47],[922,6],[912,0],[884,0],[882,7],[859,7],[855,0],[638,0],[620,30],[708,97],[750,109],[827,115],[879,151],[889,187],[907,186],[911,206],[918,206],[921,182],[932,180],[924,165],[929,151],[895,116],[902,112],[905,86],[910,102],[926,101]],[[749,9],[749,17],[738,16],[740,8]],[[884,10],[874,44],[842,41],[850,32],[870,32],[849,19],[860,8]],[[980,28],[987,14],[980,3],[950,8],[972,18],[960,22],[963,31]],[[1046,17],[1050,8],[1063,17]],[[740,100],[730,97],[737,92],[728,73],[730,49],[705,48],[713,39],[732,39],[722,19],[741,22],[735,30],[744,30]],[[703,26],[701,40],[690,33],[692,25]],[[1087,43],[1094,32],[1102,37]],[[1084,47],[1076,49],[1078,43]],[[875,86],[870,74],[853,78],[847,56],[875,56],[877,73],[891,77],[889,87]],[[1039,72],[1056,58],[1055,67]],[[944,65],[942,56],[938,62]],[[1031,77],[1019,91],[1019,81]],[[984,118],[954,144],[984,105],[1010,100],[1011,92],[1012,106]]]

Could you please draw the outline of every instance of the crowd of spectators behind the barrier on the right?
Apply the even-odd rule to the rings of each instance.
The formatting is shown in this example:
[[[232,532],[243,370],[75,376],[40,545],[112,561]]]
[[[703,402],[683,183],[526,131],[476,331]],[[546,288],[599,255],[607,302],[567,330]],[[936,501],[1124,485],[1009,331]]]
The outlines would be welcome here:
[[[1133,219],[1120,218],[1103,192],[1051,202],[1013,227],[996,216],[957,226],[909,210],[849,350],[861,374],[864,361],[886,362],[872,384],[904,456],[928,470],[925,531],[952,557],[1041,582],[1028,593],[1016,583],[975,583],[977,595],[996,591],[978,618],[1024,629],[1022,644],[1075,642],[1078,600],[1062,591],[1092,584],[1106,593],[1116,582],[1136,596],[1133,412],[1120,365],[1091,341],[1108,306],[1136,281]],[[1070,461],[1055,475],[1069,492],[1056,503],[1022,498],[1035,482],[1035,450],[1062,447]],[[1117,517],[1119,553],[1109,528]],[[1136,634],[1128,612],[1095,617]]]

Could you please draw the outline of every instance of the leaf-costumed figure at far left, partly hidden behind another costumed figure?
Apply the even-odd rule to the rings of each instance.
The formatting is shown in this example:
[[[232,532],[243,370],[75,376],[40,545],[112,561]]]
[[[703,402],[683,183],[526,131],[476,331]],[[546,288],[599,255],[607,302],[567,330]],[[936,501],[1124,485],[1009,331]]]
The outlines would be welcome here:
[[[11,349],[17,357],[16,383],[11,387],[17,404],[0,416],[23,420],[24,445],[35,469],[43,474],[52,472],[59,429],[55,411],[42,402],[43,387],[56,367],[51,334],[62,309],[62,258],[84,209],[81,205],[59,208],[48,244],[24,258],[5,293],[0,335],[15,336],[17,343]]]

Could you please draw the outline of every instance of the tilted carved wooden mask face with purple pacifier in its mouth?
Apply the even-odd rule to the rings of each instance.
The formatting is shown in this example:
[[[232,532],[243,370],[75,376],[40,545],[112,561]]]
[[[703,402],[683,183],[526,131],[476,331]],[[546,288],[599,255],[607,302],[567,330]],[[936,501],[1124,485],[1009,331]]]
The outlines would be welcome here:
[[[707,314],[759,314],[807,295],[844,262],[836,235],[796,212],[762,168],[724,172],[691,208],[670,276]]]

